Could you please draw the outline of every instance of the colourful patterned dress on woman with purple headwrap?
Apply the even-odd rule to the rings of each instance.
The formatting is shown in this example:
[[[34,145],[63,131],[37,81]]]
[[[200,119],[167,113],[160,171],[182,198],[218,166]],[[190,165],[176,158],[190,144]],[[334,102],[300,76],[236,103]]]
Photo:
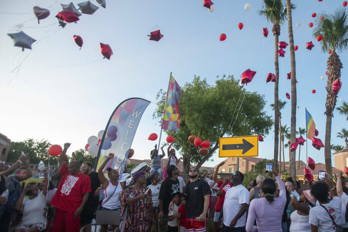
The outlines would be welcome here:
[[[147,193],[145,193],[148,191]],[[132,205],[127,205],[127,200],[131,194],[134,197],[145,194],[146,197],[139,201],[135,201]],[[137,191],[129,186],[123,195],[121,202],[121,218],[124,218],[124,232],[150,232],[151,231],[151,205],[152,192],[149,187],[144,187]],[[126,214],[126,215],[125,215]]]

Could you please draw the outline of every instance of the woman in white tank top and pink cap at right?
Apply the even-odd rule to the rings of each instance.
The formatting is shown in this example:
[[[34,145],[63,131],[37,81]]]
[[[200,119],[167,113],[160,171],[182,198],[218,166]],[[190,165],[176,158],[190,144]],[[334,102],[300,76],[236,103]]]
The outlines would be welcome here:
[[[293,196],[290,201],[291,207],[295,209],[291,214],[290,232],[311,232],[309,223],[309,210],[315,206],[315,199],[310,190],[303,191],[300,201]]]

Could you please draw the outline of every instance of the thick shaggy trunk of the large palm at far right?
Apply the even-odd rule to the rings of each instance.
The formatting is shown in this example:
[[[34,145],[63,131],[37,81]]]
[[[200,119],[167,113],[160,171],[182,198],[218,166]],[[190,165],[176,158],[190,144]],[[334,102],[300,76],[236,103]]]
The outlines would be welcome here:
[[[329,58],[327,59],[327,70],[329,75],[327,76],[327,86],[325,87],[326,95],[326,127],[325,127],[325,147],[324,147],[324,157],[325,157],[325,169],[326,172],[332,176],[332,164],[331,164],[331,122],[333,117],[333,110],[337,102],[337,94],[332,93],[332,82],[337,78],[341,77],[342,63],[340,57],[337,55],[336,51],[333,50]]]

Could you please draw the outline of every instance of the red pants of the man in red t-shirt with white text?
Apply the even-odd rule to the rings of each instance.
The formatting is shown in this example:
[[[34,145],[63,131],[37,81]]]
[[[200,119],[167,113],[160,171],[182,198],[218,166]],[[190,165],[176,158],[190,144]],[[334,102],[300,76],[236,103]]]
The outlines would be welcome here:
[[[79,232],[80,216],[74,217],[74,212],[56,208],[52,232]]]

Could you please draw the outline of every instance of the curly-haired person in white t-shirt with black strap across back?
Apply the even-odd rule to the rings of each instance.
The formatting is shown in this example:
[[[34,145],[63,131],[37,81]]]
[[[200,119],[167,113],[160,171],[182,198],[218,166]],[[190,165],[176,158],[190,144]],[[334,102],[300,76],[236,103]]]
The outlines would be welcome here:
[[[333,198],[331,201],[329,201],[329,190]],[[342,201],[329,178],[325,177],[325,182],[317,181],[312,184],[310,193],[320,203],[320,206],[313,207],[309,211],[309,223],[312,231],[336,231],[335,224],[341,223]]]

